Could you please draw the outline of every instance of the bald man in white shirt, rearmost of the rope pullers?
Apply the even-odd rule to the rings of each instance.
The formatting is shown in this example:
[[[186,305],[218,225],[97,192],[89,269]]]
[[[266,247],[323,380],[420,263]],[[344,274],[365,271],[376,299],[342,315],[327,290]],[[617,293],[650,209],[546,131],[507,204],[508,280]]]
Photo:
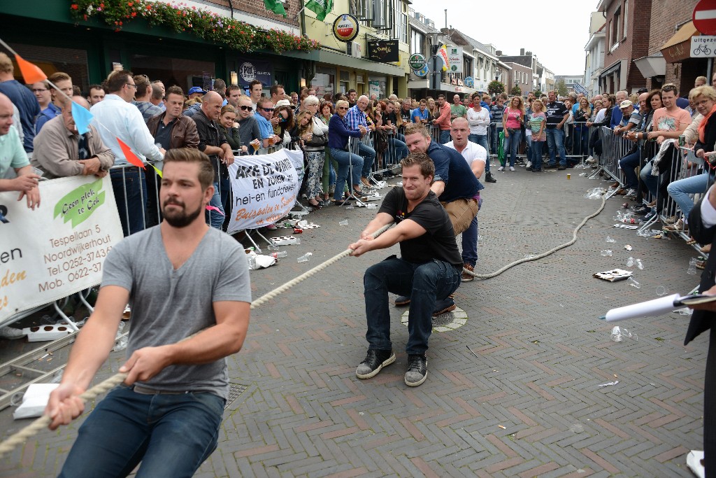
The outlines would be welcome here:
[[[475,174],[475,178],[485,172],[485,165],[488,161],[488,150],[478,143],[468,141],[470,127],[468,120],[465,118],[455,118],[450,126],[450,136],[453,138],[450,143],[445,144],[448,148],[458,151],[465,161],[470,165],[470,170]],[[483,204],[483,199],[478,199],[478,211]],[[478,262],[478,216],[473,218],[468,229],[463,231],[463,267],[472,271]],[[463,272],[463,282],[470,282],[473,276],[467,272]]]

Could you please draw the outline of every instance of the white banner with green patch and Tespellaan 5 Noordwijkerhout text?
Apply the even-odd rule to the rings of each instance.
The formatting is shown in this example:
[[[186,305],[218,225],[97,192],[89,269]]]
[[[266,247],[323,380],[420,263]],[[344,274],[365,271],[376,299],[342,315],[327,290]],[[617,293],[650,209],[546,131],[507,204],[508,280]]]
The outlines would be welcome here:
[[[97,285],[122,240],[110,177],[41,181],[41,206],[0,193],[0,322]]]

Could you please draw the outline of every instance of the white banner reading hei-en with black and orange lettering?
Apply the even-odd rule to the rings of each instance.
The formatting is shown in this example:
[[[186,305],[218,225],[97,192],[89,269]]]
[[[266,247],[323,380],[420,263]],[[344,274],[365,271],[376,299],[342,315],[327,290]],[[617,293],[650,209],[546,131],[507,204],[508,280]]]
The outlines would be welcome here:
[[[229,234],[272,224],[291,211],[300,186],[296,166],[303,167],[304,156],[284,148],[240,160],[228,167],[233,190]]]

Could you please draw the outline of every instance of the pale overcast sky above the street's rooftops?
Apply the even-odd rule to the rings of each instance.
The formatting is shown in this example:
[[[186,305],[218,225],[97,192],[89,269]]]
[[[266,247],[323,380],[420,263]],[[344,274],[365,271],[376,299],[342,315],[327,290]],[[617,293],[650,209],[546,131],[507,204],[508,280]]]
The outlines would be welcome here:
[[[437,29],[445,28],[448,9],[448,25],[480,43],[492,43],[509,55],[524,48],[555,75],[582,75],[589,14],[596,11],[597,3],[552,0],[543,8],[533,0],[412,0],[412,9],[434,21]]]

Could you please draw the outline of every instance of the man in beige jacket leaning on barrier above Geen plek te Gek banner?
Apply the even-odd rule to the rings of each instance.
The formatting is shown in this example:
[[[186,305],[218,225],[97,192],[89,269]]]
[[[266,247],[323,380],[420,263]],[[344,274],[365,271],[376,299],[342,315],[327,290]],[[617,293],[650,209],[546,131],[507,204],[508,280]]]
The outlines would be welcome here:
[[[65,176],[97,176],[104,178],[115,163],[112,150],[89,125],[89,131],[80,135],[72,118],[72,110],[89,103],[82,96],[65,100],[62,114],[45,123],[34,140],[32,166],[44,171],[49,179]]]

